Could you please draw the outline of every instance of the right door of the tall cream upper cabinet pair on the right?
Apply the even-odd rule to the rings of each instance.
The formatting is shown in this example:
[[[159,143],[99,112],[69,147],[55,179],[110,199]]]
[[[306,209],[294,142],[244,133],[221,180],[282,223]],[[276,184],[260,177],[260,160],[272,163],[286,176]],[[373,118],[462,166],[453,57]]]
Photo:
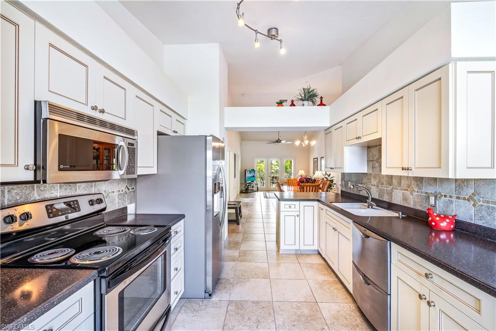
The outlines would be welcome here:
[[[450,72],[443,66],[408,86],[408,175],[452,175],[450,160]]]

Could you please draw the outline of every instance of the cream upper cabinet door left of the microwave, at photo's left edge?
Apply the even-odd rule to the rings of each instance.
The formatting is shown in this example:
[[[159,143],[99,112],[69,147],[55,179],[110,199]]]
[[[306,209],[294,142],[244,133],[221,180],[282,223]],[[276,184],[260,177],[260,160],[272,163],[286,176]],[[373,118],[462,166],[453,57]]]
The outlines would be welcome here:
[[[34,21],[1,3],[0,182],[34,180]],[[26,167],[26,168],[25,168]],[[31,169],[31,170],[30,170]]]

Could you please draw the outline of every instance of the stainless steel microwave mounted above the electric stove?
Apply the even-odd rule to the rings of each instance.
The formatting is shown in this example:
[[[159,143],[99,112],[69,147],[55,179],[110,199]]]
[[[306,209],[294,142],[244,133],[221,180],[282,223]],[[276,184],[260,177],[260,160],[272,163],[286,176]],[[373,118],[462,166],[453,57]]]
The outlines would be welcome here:
[[[36,101],[37,177],[44,183],[137,176],[137,132],[48,101]]]

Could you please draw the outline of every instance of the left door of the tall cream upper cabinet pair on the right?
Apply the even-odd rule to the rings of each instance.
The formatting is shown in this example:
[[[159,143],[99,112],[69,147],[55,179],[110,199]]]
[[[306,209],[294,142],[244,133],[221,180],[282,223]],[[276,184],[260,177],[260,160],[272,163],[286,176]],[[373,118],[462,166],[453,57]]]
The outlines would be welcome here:
[[[408,166],[408,88],[382,100],[382,174],[406,175]]]

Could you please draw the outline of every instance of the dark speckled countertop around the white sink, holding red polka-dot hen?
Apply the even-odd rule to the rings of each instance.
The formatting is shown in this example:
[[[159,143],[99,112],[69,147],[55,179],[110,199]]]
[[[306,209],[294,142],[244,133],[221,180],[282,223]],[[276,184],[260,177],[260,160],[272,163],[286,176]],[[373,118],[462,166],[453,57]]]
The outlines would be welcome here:
[[[467,283],[496,297],[496,242],[467,232],[431,229],[427,221],[412,216],[364,217],[347,212],[332,202],[364,202],[337,193],[276,193],[279,200],[324,203],[358,224],[404,247]],[[447,236],[446,236],[447,235]]]

